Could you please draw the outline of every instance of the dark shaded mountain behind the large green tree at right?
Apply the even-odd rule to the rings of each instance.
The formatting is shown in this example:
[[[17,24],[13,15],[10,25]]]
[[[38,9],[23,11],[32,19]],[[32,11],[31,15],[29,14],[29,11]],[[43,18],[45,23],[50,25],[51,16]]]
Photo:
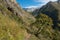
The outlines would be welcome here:
[[[50,16],[54,20],[54,27],[60,25],[60,3],[56,2],[48,2],[46,5],[42,6],[40,9],[37,9],[33,12],[33,14],[39,15],[40,13],[44,13]],[[34,15],[35,16],[35,15]]]

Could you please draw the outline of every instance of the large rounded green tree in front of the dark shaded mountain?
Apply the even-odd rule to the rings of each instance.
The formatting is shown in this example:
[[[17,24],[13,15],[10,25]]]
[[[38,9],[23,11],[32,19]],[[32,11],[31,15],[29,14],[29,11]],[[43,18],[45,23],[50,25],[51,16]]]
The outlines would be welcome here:
[[[40,14],[36,17],[36,22],[32,23],[30,27],[27,28],[27,31],[31,34],[34,34],[38,38],[51,38],[52,39],[52,33],[54,32],[52,29],[53,21],[50,17],[48,17],[45,14]],[[41,35],[41,36],[40,36]]]

